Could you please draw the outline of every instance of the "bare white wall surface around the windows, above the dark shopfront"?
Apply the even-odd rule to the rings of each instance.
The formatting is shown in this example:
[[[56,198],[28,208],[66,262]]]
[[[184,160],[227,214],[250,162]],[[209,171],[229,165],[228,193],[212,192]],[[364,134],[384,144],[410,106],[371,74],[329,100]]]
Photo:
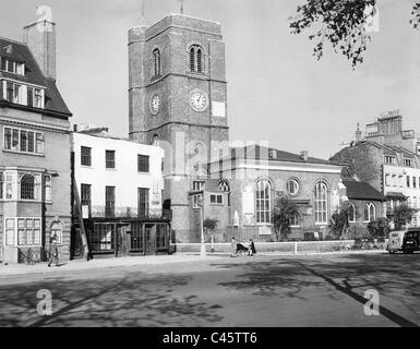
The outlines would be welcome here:
[[[105,207],[105,186],[116,186],[116,214],[127,207],[137,209],[137,188],[149,189],[151,214],[160,215],[164,177],[164,149],[127,140],[72,133],[74,172],[79,193],[81,184],[92,185],[92,207]],[[81,147],[92,148],[92,166],[81,165]],[[116,168],[106,169],[106,151],[116,152]],[[149,173],[137,172],[137,155],[149,156]]]

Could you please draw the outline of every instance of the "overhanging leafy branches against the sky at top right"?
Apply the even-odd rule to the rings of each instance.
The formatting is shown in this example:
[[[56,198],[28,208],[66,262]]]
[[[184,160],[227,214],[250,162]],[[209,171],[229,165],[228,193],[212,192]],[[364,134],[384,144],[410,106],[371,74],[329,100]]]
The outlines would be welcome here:
[[[299,5],[297,16],[290,19],[292,34],[314,28],[310,40],[317,39],[313,56],[323,56],[324,43],[329,41],[335,52],[340,52],[355,67],[363,62],[367,43],[371,40],[367,27],[376,13],[377,0],[305,0]],[[420,3],[411,12],[411,25],[420,24]]]

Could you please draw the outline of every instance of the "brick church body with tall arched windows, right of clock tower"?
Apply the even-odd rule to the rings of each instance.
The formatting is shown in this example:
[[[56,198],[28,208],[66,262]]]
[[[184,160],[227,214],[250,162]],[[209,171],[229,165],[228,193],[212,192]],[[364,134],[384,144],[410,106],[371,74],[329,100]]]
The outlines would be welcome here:
[[[227,236],[256,241],[276,239],[273,208],[287,195],[299,213],[290,219],[289,239],[326,238],[333,213],[347,201],[341,167],[327,160],[259,145],[232,148],[231,155],[209,164],[203,184],[204,217],[218,217]],[[201,193],[191,193],[192,209]]]

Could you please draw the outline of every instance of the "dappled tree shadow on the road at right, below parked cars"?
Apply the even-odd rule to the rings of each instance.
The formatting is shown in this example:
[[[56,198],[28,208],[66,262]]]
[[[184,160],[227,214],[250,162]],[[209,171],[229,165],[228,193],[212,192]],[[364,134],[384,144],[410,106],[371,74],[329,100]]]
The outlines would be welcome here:
[[[368,289],[396,300],[419,318],[420,258],[418,255],[348,254],[333,258],[281,258],[250,263],[213,264],[217,268],[242,268],[235,280],[220,286],[255,296],[298,298],[310,301],[311,289],[322,288],[334,299],[346,294],[361,304]],[[327,287],[329,286],[329,287]],[[338,292],[337,292],[338,291]],[[412,309],[412,308],[417,309]],[[418,326],[396,312],[380,305],[380,313],[399,326]],[[417,314],[417,315],[416,315]]]

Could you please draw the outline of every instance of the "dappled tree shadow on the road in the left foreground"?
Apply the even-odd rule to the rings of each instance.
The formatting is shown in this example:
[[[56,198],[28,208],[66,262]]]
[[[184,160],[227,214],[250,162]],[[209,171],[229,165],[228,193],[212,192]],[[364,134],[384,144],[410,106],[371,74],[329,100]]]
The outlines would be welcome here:
[[[221,306],[179,294],[189,276],[130,273],[117,278],[63,280],[7,286],[0,290],[0,326],[200,326],[216,323]],[[49,289],[52,316],[37,314],[37,291]]]

